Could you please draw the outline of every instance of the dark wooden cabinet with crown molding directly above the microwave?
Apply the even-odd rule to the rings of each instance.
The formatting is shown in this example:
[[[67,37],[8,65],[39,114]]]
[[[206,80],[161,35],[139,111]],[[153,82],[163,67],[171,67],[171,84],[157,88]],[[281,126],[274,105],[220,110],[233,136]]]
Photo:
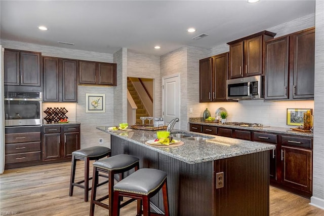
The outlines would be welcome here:
[[[228,79],[262,75],[264,42],[274,35],[270,31],[261,31],[227,43],[230,62]]]

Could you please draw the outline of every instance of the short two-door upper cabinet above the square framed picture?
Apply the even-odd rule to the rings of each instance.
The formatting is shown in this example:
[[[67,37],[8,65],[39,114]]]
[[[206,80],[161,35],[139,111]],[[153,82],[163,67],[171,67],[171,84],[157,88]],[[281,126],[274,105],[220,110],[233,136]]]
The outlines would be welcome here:
[[[116,64],[94,61],[79,61],[78,83],[116,86]]]

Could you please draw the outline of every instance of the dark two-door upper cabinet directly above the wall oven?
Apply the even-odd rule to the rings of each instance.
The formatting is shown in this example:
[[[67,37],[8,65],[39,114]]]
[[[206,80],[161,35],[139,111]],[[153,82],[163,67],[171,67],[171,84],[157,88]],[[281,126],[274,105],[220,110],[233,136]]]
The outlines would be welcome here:
[[[41,53],[5,49],[4,84],[41,86]]]

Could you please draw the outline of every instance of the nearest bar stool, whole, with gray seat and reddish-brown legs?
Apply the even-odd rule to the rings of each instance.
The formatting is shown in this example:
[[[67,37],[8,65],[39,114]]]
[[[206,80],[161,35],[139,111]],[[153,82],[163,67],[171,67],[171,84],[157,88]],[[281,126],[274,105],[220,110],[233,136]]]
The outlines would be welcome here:
[[[143,168],[127,176],[114,187],[113,214],[119,216],[121,207],[120,199],[122,196],[137,199],[137,215],[150,215],[150,198],[160,189],[163,193],[163,204],[165,215],[169,215],[169,200],[167,188],[167,173],[158,169]],[[143,202],[143,212],[142,212]],[[110,214],[109,214],[110,215]],[[156,215],[154,213],[154,215]],[[160,214],[157,214],[160,215]]]

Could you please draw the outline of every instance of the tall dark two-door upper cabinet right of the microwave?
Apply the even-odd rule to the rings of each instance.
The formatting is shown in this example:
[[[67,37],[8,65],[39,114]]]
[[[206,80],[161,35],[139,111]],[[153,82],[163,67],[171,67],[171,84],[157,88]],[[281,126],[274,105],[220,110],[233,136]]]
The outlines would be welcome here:
[[[314,98],[315,29],[265,43],[265,99]]]

